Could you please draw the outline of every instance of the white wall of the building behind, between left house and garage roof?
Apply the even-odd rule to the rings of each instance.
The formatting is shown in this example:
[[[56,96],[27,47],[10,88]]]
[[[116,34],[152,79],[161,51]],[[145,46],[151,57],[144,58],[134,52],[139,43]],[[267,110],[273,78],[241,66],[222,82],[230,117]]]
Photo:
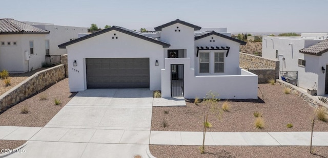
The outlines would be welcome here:
[[[58,45],[70,41],[70,39],[78,38],[79,33],[88,33],[88,28],[58,26],[58,25],[32,25],[40,29],[50,31],[46,39],[49,40],[50,55],[67,54],[66,49],[59,49]]]

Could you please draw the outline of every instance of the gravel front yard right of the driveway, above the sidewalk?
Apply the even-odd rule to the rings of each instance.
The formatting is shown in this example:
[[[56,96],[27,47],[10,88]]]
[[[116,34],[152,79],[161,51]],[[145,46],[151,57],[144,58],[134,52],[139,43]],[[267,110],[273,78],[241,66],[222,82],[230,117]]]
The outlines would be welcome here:
[[[230,111],[219,110],[223,101],[217,102],[217,109],[209,110],[208,121],[213,127],[208,131],[223,132],[265,132],[265,131],[311,131],[311,118],[314,109],[293,94],[284,94],[280,85],[259,84],[263,93],[261,100],[231,100]],[[190,99],[185,107],[153,107],[151,130],[164,131],[202,131],[204,102],[199,105]],[[264,128],[254,126],[254,112],[262,113]],[[292,128],[286,127],[288,123]],[[164,127],[164,124],[166,127]],[[328,123],[316,121],[315,131],[328,131]]]

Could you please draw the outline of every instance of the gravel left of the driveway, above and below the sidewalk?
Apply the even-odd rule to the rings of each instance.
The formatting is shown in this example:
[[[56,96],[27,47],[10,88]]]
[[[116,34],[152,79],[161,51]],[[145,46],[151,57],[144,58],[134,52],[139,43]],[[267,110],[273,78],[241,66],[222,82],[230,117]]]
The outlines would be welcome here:
[[[75,94],[69,91],[68,78],[61,80],[3,112],[0,126],[44,127]],[[60,104],[55,105],[54,99],[59,99]],[[29,111],[27,114],[21,114],[24,107]],[[0,149],[14,149],[25,142],[0,140]]]

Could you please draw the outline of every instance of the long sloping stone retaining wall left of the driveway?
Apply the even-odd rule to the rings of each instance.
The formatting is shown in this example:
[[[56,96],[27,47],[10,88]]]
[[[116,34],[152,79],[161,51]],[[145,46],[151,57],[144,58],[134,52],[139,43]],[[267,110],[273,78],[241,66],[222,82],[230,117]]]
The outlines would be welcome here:
[[[25,100],[63,78],[65,78],[65,65],[63,64],[35,73],[0,96],[0,114],[19,101]]]

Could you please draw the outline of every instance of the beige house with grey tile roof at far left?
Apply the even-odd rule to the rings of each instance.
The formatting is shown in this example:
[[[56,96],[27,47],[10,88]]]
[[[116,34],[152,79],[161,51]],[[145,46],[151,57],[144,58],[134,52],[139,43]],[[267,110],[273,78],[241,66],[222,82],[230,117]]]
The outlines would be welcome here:
[[[49,33],[11,18],[0,19],[0,71],[24,73],[41,67]]]

